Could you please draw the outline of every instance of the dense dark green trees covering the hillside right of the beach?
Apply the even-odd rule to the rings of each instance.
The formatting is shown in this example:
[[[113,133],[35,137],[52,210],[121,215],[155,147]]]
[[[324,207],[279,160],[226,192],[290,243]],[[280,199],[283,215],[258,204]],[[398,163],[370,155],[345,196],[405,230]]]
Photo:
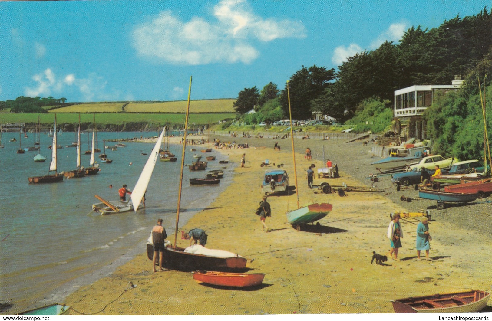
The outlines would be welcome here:
[[[361,102],[369,98],[391,109],[397,89],[451,85],[455,75],[468,75],[490,49],[490,30],[492,14],[486,7],[475,16],[458,15],[437,28],[413,26],[399,43],[386,41],[375,50],[357,53],[338,66],[338,71],[302,66],[282,90],[273,83],[261,91],[256,86],[245,88],[233,107],[239,114],[253,107],[261,113],[243,117],[246,123],[288,117],[288,86],[295,119],[322,112],[346,121],[362,112],[366,104]],[[275,101],[265,106],[271,99]]]

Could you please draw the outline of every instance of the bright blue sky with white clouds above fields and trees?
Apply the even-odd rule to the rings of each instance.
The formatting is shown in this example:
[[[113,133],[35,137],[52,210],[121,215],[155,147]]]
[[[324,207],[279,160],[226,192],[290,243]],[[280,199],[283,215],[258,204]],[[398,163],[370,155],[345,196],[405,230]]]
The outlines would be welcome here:
[[[235,98],[490,0],[0,1],[0,100]]]

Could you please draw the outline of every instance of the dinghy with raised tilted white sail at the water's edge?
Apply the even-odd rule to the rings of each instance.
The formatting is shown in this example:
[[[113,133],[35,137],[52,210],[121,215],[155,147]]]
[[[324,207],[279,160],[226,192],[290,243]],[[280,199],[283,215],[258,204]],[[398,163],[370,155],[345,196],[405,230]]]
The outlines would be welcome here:
[[[162,137],[164,136],[164,131],[166,128],[162,130],[157,142],[155,143],[154,148],[152,149],[147,162],[145,163],[144,168],[142,169],[142,173],[138,177],[137,183],[133,188],[130,194],[130,201],[122,202],[122,201],[105,201],[101,197],[95,195],[95,198],[101,201],[102,203],[92,204],[92,210],[99,212],[101,214],[111,214],[116,212],[126,212],[130,210],[137,211],[142,199],[144,197],[145,192],[147,191],[147,186],[149,186],[149,181],[151,180],[152,172],[154,172],[155,162],[157,162],[157,157],[159,155],[159,146],[162,141]]]

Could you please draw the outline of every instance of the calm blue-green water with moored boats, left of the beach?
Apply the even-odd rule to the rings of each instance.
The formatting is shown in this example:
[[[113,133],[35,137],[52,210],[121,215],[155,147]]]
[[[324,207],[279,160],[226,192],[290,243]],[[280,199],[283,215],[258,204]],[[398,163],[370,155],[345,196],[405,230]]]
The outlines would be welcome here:
[[[156,136],[157,133],[98,133],[99,147],[103,139]],[[34,146],[34,134],[22,139],[22,146]],[[81,135],[82,152],[89,150],[88,134]],[[44,163],[32,160],[37,151],[17,154],[19,133],[3,133],[0,148],[0,300],[13,303],[59,300],[60,293],[92,282],[107,275],[115,265],[146,251],[145,241],[157,218],[164,220],[168,235],[174,234],[178,200],[182,146],[171,146],[178,161],[155,165],[149,183],[144,209],[99,215],[92,212],[92,204],[118,200],[118,189],[127,184],[132,190],[154,144],[125,143],[116,151],[106,149],[112,164],[100,164],[98,175],[64,179],[60,183],[29,184],[28,177],[45,175],[51,160],[51,137],[41,134],[41,154]],[[64,132],[58,137],[59,172],[76,167],[76,149],[67,148],[76,141],[74,133]],[[106,145],[115,143],[106,142]],[[191,164],[193,154],[186,147],[185,164]],[[200,149],[200,146],[197,147]],[[207,170],[221,168],[218,160],[225,156],[216,153],[217,160],[209,162]],[[82,165],[89,166],[90,155],[82,155]],[[98,157],[96,157],[96,160]],[[131,164],[130,164],[131,163]],[[221,165],[221,164],[220,164]],[[224,164],[227,166],[227,164]],[[180,226],[197,211],[207,207],[231,180],[232,166],[224,170],[218,186],[190,186],[190,177],[203,177],[206,172],[184,170]],[[113,184],[113,188],[109,188]],[[128,196],[127,196],[128,199]],[[170,236],[170,238],[172,238]],[[149,269],[151,262],[149,261]],[[58,294],[56,294],[58,293]]]

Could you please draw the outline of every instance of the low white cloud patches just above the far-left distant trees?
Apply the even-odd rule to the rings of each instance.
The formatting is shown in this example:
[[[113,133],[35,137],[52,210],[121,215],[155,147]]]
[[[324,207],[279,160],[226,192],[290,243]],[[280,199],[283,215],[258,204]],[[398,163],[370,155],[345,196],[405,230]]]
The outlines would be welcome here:
[[[95,73],[89,74],[87,78],[77,78],[74,74],[58,77],[47,68],[42,73],[35,74],[31,78],[36,85],[26,87],[26,96],[52,96],[55,94],[66,95],[66,91],[78,90],[82,94],[83,101],[101,101],[118,99],[118,92],[108,93],[106,90],[107,81]]]

